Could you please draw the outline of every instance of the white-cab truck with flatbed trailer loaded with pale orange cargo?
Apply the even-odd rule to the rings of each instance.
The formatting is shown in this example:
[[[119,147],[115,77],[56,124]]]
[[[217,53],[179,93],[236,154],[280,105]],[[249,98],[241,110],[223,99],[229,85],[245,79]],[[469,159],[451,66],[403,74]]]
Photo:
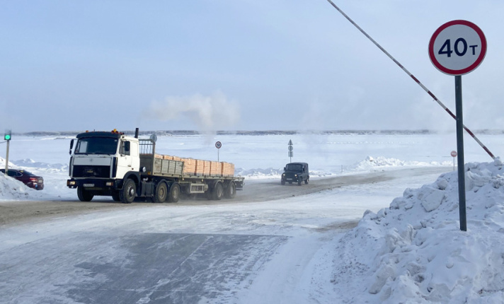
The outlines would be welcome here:
[[[153,139],[139,139],[138,128],[134,137],[116,130],[78,134],[70,143],[67,187],[81,201],[110,196],[125,204],[136,197],[176,202],[182,193],[232,199],[244,187],[231,163],[166,156],[155,148]]]

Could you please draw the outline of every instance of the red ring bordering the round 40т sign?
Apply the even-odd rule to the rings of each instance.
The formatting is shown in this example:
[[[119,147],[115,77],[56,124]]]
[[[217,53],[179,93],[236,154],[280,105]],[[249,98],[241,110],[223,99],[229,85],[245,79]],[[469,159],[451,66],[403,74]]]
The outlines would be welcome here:
[[[462,69],[449,69],[447,66],[444,66],[442,63],[440,63],[437,60],[435,52],[434,52],[434,43],[435,43],[437,37],[440,35],[440,33],[442,33],[443,30],[446,30],[447,28],[449,28],[449,27],[451,27],[453,25],[465,25],[465,26],[471,28],[479,36],[479,40],[481,40],[481,52],[479,53],[478,58],[472,64],[470,64],[469,66],[465,66]],[[486,55],[486,38],[485,38],[485,35],[483,34],[483,31],[478,27],[478,25],[476,25],[474,23],[471,23],[469,21],[465,21],[465,20],[449,21],[449,22],[441,25],[440,28],[438,28],[434,32],[433,36],[430,37],[430,42],[429,42],[429,57],[430,57],[430,61],[433,62],[434,66],[437,69],[439,69],[440,71],[442,71],[445,74],[449,74],[449,75],[463,75],[463,74],[467,74],[470,71],[473,71],[474,69],[476,69],[481,64],[481,62],[483,62],[483,59],[485,58],[485,55]]]

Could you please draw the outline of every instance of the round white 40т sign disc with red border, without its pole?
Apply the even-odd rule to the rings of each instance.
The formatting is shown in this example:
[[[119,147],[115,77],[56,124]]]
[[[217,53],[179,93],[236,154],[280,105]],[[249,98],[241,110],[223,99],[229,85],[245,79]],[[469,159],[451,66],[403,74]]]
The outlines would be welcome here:
[[[441,25],[430,38],[430,61],[445,74],[467,74],[483,62],[485,55],[485,35],[469,21],[449,21]]]

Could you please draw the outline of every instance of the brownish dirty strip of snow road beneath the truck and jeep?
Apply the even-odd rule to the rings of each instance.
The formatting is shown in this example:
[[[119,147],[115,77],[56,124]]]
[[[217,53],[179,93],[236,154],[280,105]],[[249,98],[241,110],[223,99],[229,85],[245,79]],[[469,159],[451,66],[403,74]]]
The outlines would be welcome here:
[[[427,174],[440,174],[447,171],[446,167],[408,168],[403,170],[380,171],[376,173],[365,173],[357,175],[343,175],[337,177],[326,177],[310,180],[308,185],[281,186],[279,180],[252,180],[247,181],[243,191],[239,191],[232,200],[209,201],[205,198],[181,199],[176,204],[166,205],[211,205],[211,204],[232,204],[237,201],[241,203],[272,201],[296,197],[320,192],[326,189],[334,189],[349,185],[366,185],[386,180],[395,180],[404,177],[414,177]],[[0,226],[11,225],[22,222],[41,221],[47,218],[57,218],[76,214],[86,214],[94,211],[106,211],[110,209],[130,209],[148,208],[152,204],[145,202],[135,202],[133,204],[121,204],[112,201],[108,197],[95,197],[91,202],[76,201],[0,201]]]

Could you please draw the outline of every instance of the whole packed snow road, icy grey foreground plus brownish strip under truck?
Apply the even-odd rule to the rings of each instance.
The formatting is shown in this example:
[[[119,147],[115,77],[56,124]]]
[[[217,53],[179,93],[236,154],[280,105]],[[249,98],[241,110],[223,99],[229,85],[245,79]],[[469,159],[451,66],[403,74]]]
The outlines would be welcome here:
[[[251,181],[222,201],[3,202],[0,303],[338,303],[334,240],[446,171]]]

